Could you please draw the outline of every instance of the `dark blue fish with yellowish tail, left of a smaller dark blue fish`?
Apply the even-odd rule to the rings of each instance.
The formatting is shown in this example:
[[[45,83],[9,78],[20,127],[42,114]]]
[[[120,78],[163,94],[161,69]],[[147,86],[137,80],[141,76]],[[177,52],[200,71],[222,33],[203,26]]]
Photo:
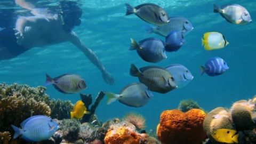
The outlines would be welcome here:
[[[131,38],[130,50],[137,50],[141,59],[147,62],[159,62],[167,58],[164,42],[157,38],[146,38],[139,44]]]

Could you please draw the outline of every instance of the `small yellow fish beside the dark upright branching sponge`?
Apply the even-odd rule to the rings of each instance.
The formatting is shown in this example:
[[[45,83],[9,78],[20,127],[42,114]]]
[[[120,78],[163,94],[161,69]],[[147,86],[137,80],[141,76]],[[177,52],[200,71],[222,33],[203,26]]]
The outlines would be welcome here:
[[[70,112],[71,118],[80,119],[84,114],[90,114],[89,111],[86,111],[86,107],[82,100],[78,100],[73,108],[73,111]]]

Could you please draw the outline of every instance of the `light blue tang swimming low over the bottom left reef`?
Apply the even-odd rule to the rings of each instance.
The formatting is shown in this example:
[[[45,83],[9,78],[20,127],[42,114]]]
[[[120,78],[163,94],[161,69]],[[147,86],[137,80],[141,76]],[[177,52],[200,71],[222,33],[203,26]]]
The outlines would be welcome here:
[[[25,121],[20,124],[21,129],[14,125],[11,126],[15,131],[13,139],[16,139],[21,135],[22,139],[31,142],[42,141],[51,138],[59,127],[57,122],[44,115],[31,116],[25,119]]]

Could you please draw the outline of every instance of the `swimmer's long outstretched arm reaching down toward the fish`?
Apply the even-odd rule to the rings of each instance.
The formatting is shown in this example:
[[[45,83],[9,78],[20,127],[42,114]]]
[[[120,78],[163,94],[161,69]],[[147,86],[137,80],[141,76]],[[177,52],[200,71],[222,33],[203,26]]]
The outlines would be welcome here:
[[[102,65],[97,55],[88,47],[84,45],[81,39],[75,34],[74,31],[71,31],[71,38],[70,42],[77,46],[85,55],[86,57],[99,68],[102,73],[103,79],[110,85],[114,84],[114,78],[111,74],[106,70],[106,68]]]

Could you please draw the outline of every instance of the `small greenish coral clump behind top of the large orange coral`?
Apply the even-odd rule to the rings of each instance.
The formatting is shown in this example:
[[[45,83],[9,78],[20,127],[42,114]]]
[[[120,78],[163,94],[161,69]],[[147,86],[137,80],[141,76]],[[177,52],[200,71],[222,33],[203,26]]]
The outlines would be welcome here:
[[[193,109],[193,108],[202,109],[199,107],[199,105],[196,101],[190,100],[190,99],[180,101],[179,106],[178,106],[178,109],[180,111],[182,111],[183,113],[186,113],[188,110]]]

